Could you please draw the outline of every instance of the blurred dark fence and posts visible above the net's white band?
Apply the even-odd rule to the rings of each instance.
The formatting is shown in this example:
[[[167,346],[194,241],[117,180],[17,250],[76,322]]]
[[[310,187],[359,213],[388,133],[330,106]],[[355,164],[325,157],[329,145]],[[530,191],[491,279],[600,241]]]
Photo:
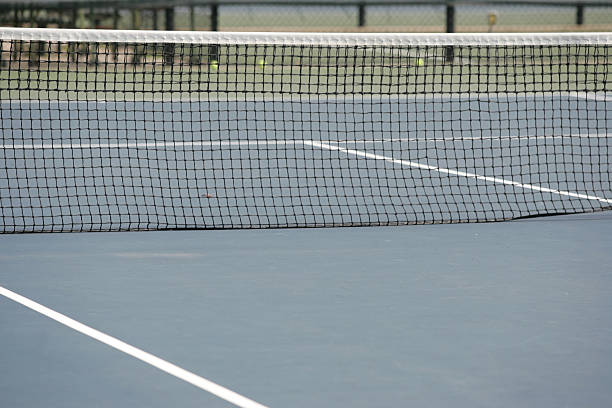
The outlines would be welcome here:
[[[212,31],[602,31],[612,30],[612,0],[0,0],[0,25]]]

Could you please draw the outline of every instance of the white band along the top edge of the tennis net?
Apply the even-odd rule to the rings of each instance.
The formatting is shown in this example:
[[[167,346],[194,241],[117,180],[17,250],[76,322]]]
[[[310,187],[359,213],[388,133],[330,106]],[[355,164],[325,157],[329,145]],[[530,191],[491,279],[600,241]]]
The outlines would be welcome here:
[[[612,45],[612,33],[267,33],[210,31],[0,28],[0,40],[216,45],[461,46]]]

